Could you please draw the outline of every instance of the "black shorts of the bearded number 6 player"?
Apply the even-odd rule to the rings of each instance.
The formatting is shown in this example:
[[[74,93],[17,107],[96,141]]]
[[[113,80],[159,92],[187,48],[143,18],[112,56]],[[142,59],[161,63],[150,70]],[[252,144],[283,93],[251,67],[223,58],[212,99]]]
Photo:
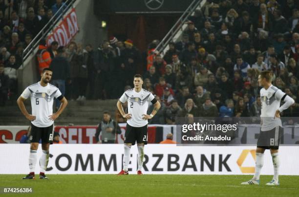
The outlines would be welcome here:
[[[54,125],[54,124],[53,124]],[[42,143],[53,142],[54,127],[53,125],[49,127],[36,127],[31,123],[31,131],[29,140],[32,143],[39,143],[42,139]]]

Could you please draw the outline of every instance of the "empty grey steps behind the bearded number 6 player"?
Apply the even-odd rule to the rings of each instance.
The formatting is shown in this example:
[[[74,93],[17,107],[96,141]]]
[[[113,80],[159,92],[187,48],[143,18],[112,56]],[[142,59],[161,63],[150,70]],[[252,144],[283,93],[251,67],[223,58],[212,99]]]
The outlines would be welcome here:
[[[55,121],[55,125],[97,125],[102,120],[103,112],[109,111],[114,119],[117,100],[86,100],[68,101],[68,106]],[[11,105],[9,105],[11,104]],[[28,112],[31,106],[28,101],[25,103]],[[15,103],[8,103],[0,107],[0,125],[28,125],[29,121],[23,116]]]

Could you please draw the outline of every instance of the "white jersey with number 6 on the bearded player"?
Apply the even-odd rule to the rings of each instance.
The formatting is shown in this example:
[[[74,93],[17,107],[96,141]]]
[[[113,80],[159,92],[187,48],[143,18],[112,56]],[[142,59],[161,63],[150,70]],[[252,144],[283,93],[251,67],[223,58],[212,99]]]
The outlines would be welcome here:
[[[60,90],[51,84],[43,87],[40,82],[28,86],[21,97],[24,99],[29,98],[31,100],[32,115],[36,116],[36,119],[31,123],[36,127],[49,127],[54,121],[49,119],[49,115],[53,114],[53,100],[54,97],[58,98],[62,96]]]

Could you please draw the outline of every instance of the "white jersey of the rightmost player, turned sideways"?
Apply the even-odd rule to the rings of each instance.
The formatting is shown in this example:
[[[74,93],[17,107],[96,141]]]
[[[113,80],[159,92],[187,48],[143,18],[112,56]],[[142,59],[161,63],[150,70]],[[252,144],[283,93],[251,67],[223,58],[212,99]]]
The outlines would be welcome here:
[[[282,127],[280,118],[275,117],[275,112],[280,107],[280,100],[284,95],[283,91],[272,85],[268,89],[261,88],[261,131],[270,131],[277,126]]]

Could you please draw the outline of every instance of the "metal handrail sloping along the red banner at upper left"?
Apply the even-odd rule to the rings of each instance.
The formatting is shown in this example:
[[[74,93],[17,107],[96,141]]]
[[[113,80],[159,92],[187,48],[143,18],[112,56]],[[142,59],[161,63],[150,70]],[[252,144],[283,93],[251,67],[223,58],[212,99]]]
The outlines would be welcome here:
[[[34,49],[39,45],[40,41],[44,39],[47,34],[52,31],[52,28],[62,19],[62,16],[73,6],[76,0],[66,0],[64,3],[66,6],[61,6],[56,13],[52,16],[50,21],[48,21],[43,29],[34,37],[34,39],[28,44],[22,53],[22,67],[25,60],[29,57]]]

